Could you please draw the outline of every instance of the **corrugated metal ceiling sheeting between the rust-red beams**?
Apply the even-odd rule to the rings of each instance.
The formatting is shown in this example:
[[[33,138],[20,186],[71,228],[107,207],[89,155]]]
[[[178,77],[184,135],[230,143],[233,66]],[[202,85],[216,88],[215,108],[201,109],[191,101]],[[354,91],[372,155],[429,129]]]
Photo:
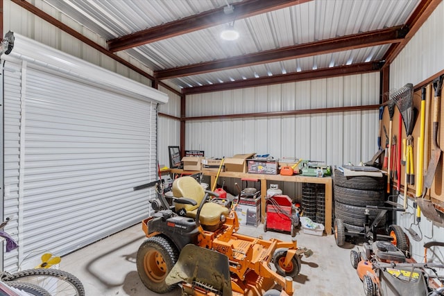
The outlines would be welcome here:
[[[239,0],[44,0],[105,40],[167,24]],[[126,53],[153,71],[261,53],[286,46],[316,42],[405,24],[420,0],[314,0],[246,19],[235,19],[240,38],[219,37],[225,25],[144,44]],[[208,85],[369,62],[384,56],[388,45],[340,53],[265,63],[168,80],[180,87]]]

